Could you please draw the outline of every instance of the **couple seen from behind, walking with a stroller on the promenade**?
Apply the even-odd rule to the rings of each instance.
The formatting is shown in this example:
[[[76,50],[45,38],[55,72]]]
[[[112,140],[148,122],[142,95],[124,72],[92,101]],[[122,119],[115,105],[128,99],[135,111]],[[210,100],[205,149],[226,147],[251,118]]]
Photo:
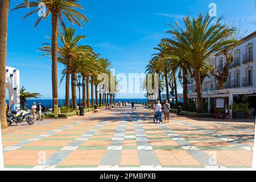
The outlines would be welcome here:
[[[164,113],[164,123],[169,122],[170,119],[170,113],[171,113],[171,109],[170,109],[170,104],[168,104],[168,101],[164,101],[164,105],[162,106],[160,101],[156,102],[156,105],[154,107],[155,110],[155,118],[154,118],[154,122],[156,119],[156,122],[159,121],[160,123],[163,123],[162,120],[162,111]]]

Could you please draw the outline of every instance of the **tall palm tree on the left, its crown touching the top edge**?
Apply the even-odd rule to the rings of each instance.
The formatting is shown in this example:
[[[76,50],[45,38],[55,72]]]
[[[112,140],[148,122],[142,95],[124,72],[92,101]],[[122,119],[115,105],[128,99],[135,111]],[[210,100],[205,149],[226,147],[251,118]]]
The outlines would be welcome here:
[[[28,5],[26,3],[22,3],[16,5],[13,10],[22,9],[24,7],[35,7],[35,10],[32,10],[30,13],[24,16],[23,19],[26,19],[27,16],[30,16],[34,13],[37,13],[40,9],[38,6],[40,3],[43,3],[46,8],[46,15],[44,19],[47,19],[50,14],[51,22],[52,22],[52,99],[58,98],[57,93],[57,37],[59,31],[59,22],[65,27],[64,17],[69,20],[72,24],[77,24],[81,27],[81,22],[84,23],[84,20],[89,22],[89,20],[80,13],[79,10],[84,10],[82,5],[78,3],[77,0],[38,0],[38,2],[30,2]],[[38,26],[38,23],[43,19],[43,16],[40,16],[35,23],[35,28]]]

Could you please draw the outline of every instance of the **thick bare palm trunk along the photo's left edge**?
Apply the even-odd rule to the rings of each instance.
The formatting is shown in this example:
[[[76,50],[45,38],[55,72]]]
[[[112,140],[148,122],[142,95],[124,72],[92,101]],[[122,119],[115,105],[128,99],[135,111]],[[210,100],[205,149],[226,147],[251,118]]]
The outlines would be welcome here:
[[[6,55],[7,55],[7,24],[10,0],[0,1],[0,119],[1,129],[8,127],[6,121]]]

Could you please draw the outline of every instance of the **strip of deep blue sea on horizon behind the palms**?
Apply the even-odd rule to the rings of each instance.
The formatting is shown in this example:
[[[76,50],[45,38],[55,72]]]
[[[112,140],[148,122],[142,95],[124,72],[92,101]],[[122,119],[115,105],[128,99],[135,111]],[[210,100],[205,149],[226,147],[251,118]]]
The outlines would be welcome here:
[[[82,101],[82,100],[81,100]],[[118,101],[123,101],[123,102],[141,102],[141,103],[145,103],[146,102],[146,99],[144,98],[115,98],[115,102],[118,102]],[[36,103],[36,105],[38,104],[38,102],[41,102],[42,106],[44,107],[52,107],[52,100],[51,99],[30,99],[30,100],[27,100],[27,104],[28,104],[28,108],[30,108],[33,103]],[[90,100],[91,102],[91,100]],[[96,100],[94,100],[94,103],[96,102]],[[9,100],[6,100],[6,103],[9,103]],[[79,100],[77,100],[77,103],[79,103]],[[64,106],[65,105],[65,100],[64,99],[60,99],[58,100],[58,104],[59,104],[59,107],[61,106]]]

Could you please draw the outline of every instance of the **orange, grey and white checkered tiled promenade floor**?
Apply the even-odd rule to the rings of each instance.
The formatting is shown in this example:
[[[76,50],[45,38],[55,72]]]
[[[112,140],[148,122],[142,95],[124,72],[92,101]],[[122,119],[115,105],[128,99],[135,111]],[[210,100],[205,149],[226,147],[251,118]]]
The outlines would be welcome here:
[[[3,138],[6,168],[245,168],[253,161],[254,123],[172,116],[152,123],[138,106],[23,127]],[[15,126],[13,126],[15,127]]]

